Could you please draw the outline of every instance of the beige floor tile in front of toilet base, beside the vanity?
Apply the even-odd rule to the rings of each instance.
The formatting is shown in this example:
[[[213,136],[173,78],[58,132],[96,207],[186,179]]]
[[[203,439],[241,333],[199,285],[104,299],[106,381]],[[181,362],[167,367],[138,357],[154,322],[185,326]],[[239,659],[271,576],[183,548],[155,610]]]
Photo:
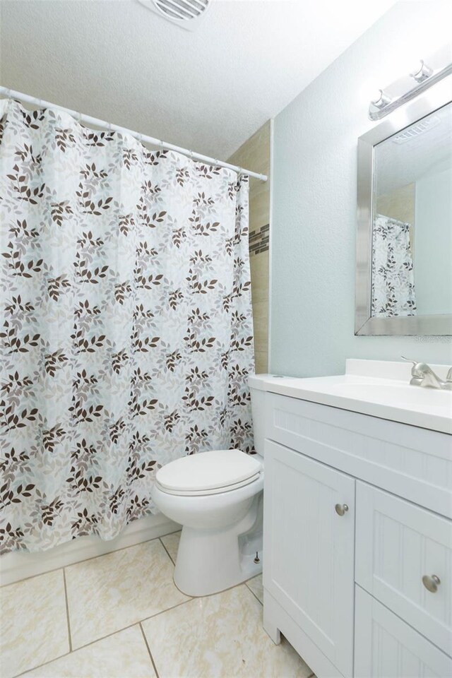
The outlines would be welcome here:
[[[143,622],[160,678],[307,678],[311,670],[262,626],[262,605],[246,585],[194,598]]]

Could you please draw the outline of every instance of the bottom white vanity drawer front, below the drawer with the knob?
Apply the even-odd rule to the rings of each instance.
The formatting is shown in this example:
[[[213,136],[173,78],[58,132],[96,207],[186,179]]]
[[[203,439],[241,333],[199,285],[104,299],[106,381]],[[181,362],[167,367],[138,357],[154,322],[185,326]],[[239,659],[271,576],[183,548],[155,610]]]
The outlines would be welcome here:
[[[355,678],[451,678],[451,658],[359,586],[355,606]]]

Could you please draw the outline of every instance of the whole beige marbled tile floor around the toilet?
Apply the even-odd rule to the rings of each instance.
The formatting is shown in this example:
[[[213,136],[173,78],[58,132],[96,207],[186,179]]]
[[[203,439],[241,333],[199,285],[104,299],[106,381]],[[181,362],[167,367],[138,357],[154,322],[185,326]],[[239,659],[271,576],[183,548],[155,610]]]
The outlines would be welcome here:
[[[0,677],[315,678],[262,628],[262,577],[190,598],[179,533],[0,588]]]

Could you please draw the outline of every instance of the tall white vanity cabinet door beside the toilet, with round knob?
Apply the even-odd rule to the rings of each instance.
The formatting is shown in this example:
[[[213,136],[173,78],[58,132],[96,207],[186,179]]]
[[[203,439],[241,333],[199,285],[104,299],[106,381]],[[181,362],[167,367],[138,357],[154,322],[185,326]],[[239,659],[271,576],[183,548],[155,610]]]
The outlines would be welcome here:
[[[354,537],[355,480],[266,440],[264,588],[344,676],[353,671]]]

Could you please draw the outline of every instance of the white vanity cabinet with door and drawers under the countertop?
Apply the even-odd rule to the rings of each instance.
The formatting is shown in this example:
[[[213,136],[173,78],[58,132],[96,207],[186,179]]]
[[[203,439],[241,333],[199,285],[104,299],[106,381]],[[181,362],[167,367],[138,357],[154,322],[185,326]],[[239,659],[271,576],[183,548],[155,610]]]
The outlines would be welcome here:
[[[264,627],[318,678],[452,678],[452,440],[266,393]]]

